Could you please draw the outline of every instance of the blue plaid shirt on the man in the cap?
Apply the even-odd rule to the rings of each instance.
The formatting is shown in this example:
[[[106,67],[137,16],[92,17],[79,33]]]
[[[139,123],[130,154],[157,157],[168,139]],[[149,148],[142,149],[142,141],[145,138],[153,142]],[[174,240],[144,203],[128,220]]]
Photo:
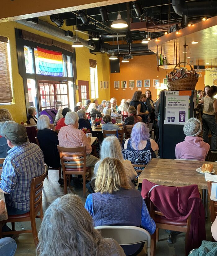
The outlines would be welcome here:
[[[30,142],[15,146],[8,151],[2,169],[0,188],[8,193],[6,204],[29,211],[31,181],[45,172],[43,152]]]

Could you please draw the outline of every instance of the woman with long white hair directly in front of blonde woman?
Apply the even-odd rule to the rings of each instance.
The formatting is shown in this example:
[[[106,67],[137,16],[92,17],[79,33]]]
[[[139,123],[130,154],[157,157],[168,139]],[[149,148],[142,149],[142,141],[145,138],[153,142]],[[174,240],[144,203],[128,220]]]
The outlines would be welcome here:
[[[134,170],[131,161],[123,159],[120,142],[115,136],[104,138],[100,148],[100,161],[98,161],[94,167],[95,175],[97,174],[100,163],[106,157],[114,157],[122,162],[126,172],[127,183],[131,186],[132,189],[135,189],[134,180],[137,176],[137,172]]]

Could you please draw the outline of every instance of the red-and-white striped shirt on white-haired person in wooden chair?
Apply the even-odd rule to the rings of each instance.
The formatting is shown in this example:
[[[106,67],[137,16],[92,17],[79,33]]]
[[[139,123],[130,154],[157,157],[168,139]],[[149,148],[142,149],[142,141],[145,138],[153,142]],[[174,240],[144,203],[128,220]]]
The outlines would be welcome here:
[[[90,155],[92,151],[91,145],[88,143],[86,134],[81,130],[75,128],[73,124],[69,124],[68,126],[62,127],[60,132],[58,133],[58,140],[60,147],[84,147],[86,146],[86,154]],[[69,153],[73,155],[72,153]],[[79,154],[79,152],[74,153]],[[81,154],[81,152],[80,152]],[[75,159],[73,157],[72,159]]]

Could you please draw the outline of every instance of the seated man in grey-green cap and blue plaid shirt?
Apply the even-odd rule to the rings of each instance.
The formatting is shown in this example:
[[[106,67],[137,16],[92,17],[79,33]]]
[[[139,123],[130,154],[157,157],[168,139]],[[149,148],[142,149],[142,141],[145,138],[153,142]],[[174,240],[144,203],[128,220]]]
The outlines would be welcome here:
[[[3,163],[0,192],[7,194],[9,215],[24,214],[29,212],[31,181],[45,172],[43,152],[29,142],[23,125],[9,123],[3,133],[11,149]]]

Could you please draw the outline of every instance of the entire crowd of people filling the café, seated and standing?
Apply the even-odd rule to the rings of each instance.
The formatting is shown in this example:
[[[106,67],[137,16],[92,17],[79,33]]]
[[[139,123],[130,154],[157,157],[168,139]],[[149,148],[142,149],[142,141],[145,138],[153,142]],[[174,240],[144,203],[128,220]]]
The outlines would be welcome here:
[[[206,100],[209,100],[209,110],[210,105],[214,105],[215,110],[215,104],[213,104],[215,100],[212,98],[215,92],[217,92],[215,88],[210,88],[210,93],[207,93],[204,97],[205,110]],[[213,94],[211,95],[211,93]],[[110,252],[107,249],[108,255],[125,255],[116,241],[102,239],[97,230],[94,233],[92,218],[95,226],[139,226],[146,229],[150,234],[154,233],[155,223],[148,213],[141,193],[135,189],[137,187],[137,172],[141,172],[144,167],[133,167],[133,165],[147,165],[152,158],[156,158],[155,151],[158,151],[158,145],[150,138],[148,128],[154,110],[151,102],[153,101],[150,91],[147,91],[146,94],[136,91],[130,103],[129,100],[123,99],[118,107],[116,98],[111,98],[109,101],[103,100],[100,105],[98,105],[97,99],[93,103],[86,100],[85,107],[82,106],[81,102],[78,102],[74,111],[69,108],[59,109],[55,118],[56,125],[50,124],[47,115],[41,115],[37,119],[36,109],[30,107],[28,109],[28,121],[30,124],[37,124],[37,138],[40,148],[29,142],[26,128],[23,125],[11,121],[13,119],[7,109],[0,110],[0,158],[5,158],[0,192],[7,194],[6,207],[8,214],[16,215],[29,212],[31,180],[45,172],[45,163],[53,168],[61,167],[57,145],[69,148],[86,146],[86,166],[94,169],[95,188],[92,192],[95,193],[91,193],[86,199],[85,208],[87,211],[78,196],[72,194],[57,198],[45,211],[38,234],[38,255],[59,255],[58,250],[65,252],[65,255],[73,255],[72,251],[79,253],[79,248],[75,243],[82,243],[82,239],[86,235],[88,235],[89,242],[92,241],[90,246],[85,245],[87,255],[98,255],[95,252],[103,252],[105,248],[109,248],[112,252],[116,251],[116,254],[109,254]],[[160,99],[158,103],[160,104]],[[108,136],[101,143],[100,158],[91,155],[91,138],[87,137],[82,131],[82,128],[87,128],[91,131],[92,136],[96,136],[87,118],[86,113],[88,112],[92,120],[95,119],[97,114],[103,115],[102,132],[103,130],[120,130],[121,128],[115,122],[122,118],[122,114],[127,114],[128,117],[125,118],[123,125],[134,125],[131,137],[124,141],[122,147],[116,135]],[[210,146],[199,137],[201,129],[202,125],[198,119],[188,119],[183,128],[186,135],[185,140],[176,145],[175,155],[177,159],[205,160]],[[56,133],[56,130],[59,133]],[[20,158],[20,156],[25,157]],[[82,182],[78,177],[73,177],[71,185],[82,188]],[[103,205],[107,207],[103,207]],[[58,225],[64,225],[62,221],[60,223],[49,221],[51,217],[60,217],[63,210],[68,220],[75,218],[75,215],[77,219],[76,221],[70,221],[71,226],[65,226],[66,228],[62,230],[63,233],[60,234],[58,242],[55,240],[54,244],[51,240],[44,239],[44,237],[48,234],[48,230],[51,234],[54,234],[54,229]],[[76,211],[79,211],[79,214]],[[80,217],[81,212],[82,215],[88,216],[85,218],[85,221],[87,221],[85,227],[82,223],[83,218]],[[122,214],[114,216],[113,212],[121,212]],[[83,236],[81,235],[78,241],[76,232],[78,227],[81,229],[80,226],[83,228]],[[7,231],[9,228],[5,225],[3,230]],[[57,228],[58,232],[59,230],[60,228]],[[73,232],[70,230],[76,230],[75,234],[72,234]],[[69,238],[66,239],[66,236],[70,236],[70,241]],[[127,252],[135,252],[139,251],[140,246],[143,247],[143,245],[128,248],[123,246],[123,249]]]

